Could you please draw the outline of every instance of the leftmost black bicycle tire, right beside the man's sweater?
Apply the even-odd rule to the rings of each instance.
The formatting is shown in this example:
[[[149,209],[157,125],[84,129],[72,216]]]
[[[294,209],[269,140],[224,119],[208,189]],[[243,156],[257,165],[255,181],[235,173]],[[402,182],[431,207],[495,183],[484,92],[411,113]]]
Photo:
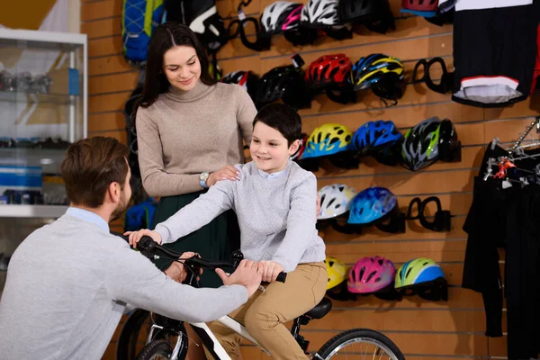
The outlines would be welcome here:
[[[150,312],[136,309],[121,328],[116,343],[116,360],[131,360],[137,355],[137,340],[143,324],[150,316]]]

